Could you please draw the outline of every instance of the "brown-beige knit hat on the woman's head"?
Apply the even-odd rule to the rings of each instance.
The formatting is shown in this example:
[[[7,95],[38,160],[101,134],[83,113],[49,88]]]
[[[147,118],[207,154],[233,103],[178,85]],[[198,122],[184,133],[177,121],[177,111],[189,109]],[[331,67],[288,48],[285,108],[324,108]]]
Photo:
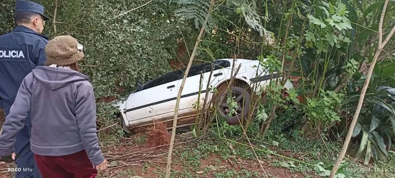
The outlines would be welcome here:
[[[83,46],[69,35],[56,36],[45,46],[47,63],[68,66],[84,60]]]

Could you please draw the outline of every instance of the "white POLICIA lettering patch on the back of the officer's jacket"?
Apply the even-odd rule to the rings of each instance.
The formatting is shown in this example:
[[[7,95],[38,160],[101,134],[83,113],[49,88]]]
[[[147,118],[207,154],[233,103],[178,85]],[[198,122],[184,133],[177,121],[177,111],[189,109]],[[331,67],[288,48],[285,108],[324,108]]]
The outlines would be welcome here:
[[[26,47],[2,47],[0,46],[0,62],[26,61]]]

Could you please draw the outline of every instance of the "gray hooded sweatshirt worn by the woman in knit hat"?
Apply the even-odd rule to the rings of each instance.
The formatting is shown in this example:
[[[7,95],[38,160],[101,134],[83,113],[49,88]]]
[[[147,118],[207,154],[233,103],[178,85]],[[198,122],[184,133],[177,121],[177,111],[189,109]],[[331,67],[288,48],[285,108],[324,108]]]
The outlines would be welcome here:
[[[31,110],[33,153],[62,156],[86,150],[93,165],[104,161],[96,134],[96,104],[88,76],[49,66],[32,70],[19,87],[3,124],[0,155],[14,152],[15,134]]]

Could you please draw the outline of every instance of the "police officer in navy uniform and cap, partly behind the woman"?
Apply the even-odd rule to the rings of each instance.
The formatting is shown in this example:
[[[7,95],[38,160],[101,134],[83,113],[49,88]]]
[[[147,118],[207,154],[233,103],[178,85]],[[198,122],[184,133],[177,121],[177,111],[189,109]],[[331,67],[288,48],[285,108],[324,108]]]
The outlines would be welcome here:
[[[0,36],[0,106],[4,107],[5,115],[9,113],[23,78],[36,66],[44,65],[44,48],[48,43],[48,37],[41,34],[49,19],[42,5],[16,1],[14,17],[17,26]],[[16,178],[41,177],[30,150],[30,128],[29,114],[24,129],[16,135]]]

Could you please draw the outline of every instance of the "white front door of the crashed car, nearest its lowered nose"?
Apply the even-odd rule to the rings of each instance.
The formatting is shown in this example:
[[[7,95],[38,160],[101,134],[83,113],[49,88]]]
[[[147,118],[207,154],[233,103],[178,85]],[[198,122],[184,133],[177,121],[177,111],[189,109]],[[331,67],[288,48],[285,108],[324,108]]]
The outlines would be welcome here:
[[[181,70],[173,71],[144,84],[140,91],[129,95],[126,116],[133,126],[161,120],[174,112],[178,83],[182,79]]]

